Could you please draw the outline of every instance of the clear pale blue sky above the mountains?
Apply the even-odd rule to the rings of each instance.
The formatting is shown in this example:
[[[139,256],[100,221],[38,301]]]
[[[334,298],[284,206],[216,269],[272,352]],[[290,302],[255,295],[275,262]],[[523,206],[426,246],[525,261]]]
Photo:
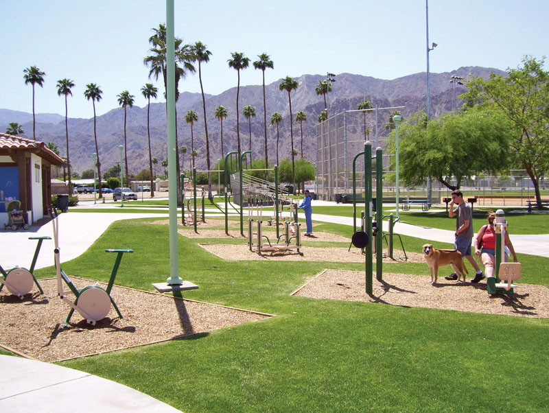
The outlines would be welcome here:
[[[31,65],[46,73],[37,113],[65,115],[56,92],[62,78],[76,84],[69,117],[93,116],[83,95],[91,82],[104,92],[98,115],[118,106],[121,91],[145,106],[141,86],[163,90],[143,65],[151,28],[165,22],[163,0],[0,0],[0,15],[0,108],[32,111],[32,88],[23,80]],[[541,59],[549,49],[547,21],[547,0],[430,0],[429,39],[439,45],[430,70],[504,70],[526,54]],[[232,51],[251,61],[269,54],[274,70],[266,71],[267,83],[327,71],[394,79],[426,70],[425,0],[175,0],[175,34],[212,52],[202,70],[211,94],[236,86],[237,73],[227,66]],[[241,84],[261,84],[261,71],[250,64]],[[180,91],[200,92],[198,74]]]

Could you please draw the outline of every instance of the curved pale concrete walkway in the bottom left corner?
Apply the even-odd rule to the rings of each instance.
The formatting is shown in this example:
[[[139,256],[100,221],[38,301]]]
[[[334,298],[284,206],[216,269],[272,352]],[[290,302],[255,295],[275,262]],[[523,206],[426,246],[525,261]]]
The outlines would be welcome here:
[[[2,413],[178,413],[115,381],[79,370],[0,355]]]

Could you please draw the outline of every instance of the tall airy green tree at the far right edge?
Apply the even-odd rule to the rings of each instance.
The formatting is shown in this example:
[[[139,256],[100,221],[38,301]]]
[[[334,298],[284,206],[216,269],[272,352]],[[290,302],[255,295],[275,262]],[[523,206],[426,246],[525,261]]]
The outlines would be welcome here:
[[[466,109],[482,106],[509,119],[513,161],[526,169],[540,207],[539,180],[549,169],[549,72],[544,63],[524,56],[522,67],[507,69],[506,77],[491,73],[488,81],[472,78],[469,91],[461,95]]]

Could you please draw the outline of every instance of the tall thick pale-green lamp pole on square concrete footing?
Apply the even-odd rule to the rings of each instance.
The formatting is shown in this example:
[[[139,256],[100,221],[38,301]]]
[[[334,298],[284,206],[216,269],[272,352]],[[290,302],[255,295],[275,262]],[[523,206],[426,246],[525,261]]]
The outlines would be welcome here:
[[[170,278],[166,283],[180,285],[177,241],[177,147],[176,147],[176,71],[174,37],[174,0],[166,0],[166,67],[167,67],[167,163],[170,209]],[[122,165],[120,164],[120,168]],[[124,199],[124,198],[122,198]]]

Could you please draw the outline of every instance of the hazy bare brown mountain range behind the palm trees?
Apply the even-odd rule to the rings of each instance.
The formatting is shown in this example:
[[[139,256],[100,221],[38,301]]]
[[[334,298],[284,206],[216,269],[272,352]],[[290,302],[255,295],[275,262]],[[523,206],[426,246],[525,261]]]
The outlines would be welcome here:
[[[487,79],[490,73],[506,75],[504,71],[484,67],[460,67],[446,73],[430,73],[430,106],[431,116],[437,117],[441,113],[456,108],[460,102],[459,95],[466,91],[465,86],[456,86],[449,81],[452,75],[467,78],[473,74]],[[340,73],[332,85],[329,99],[329,115],[340,113],[343,110],[355,110],[358,103],[368,99],[372,106],[392,107],[406,106],[403,115],[425,110],[426,102],[426,73],[415,73],[394,80],[382,80],[351,73]],[[325,80],[323,75],[301,75],[294,78],[299,87],[292,91],[292,113],[303,110],[307,114],[307,121],[303,123],[303,152],[305,158],[316,162],[316,123],[318,114],[324,110],[324,98],[316,95],[316,84]],[[204,80],[207,84],[207,79]],[[276,161],[276,126],[270,124],[270,115],[279,112],[283,121],[279,125],[279,155],[283,159],[290,155],[290,106],[288,93],[279,90],[279,83],[272,82],[265,86],[268,122],[268,152],[269,160]],[[455,88],[454,88],[455,87]],[[163,91],[159,91],[161,95]],[[219,95],[205,95],[208,136],[210,141],[210,160],[213,166],[221,158],[220,150],[220,121],[215,119],[214,111],[217,106],[223,105],[228,111],[228,117],[223,121],[224,152],[237,148],[236,126],[236,87],[230,88]],[[256,117],[251,118],[252,150],[254,158],[264,156],[264,126],[263,126],[263,88],[261,85],[241,86],[239,106],[240,140],[242,150],[248,149],[248,120],[242,115],[246,105],[255,106]],[[205,128],[202,115],[202,95],[200,93],[184,92],[180,94],[176,104],[178,146],[185,145],[185,169],[189,168],[191,152],[191,130],[185,123],[187,110],[195,110],[198,121],[194,123],[194,149],[198,152],[196,168],[206,169]],[[385,121],[386,119],[383,119]],[[381,121],[381,120],[380,120]],[[8,123],[17,122],[23,126],[23,137],[32,138],[32,113],[0,108],[0,130],[5,130]],[[81,173],[84,169],[93,167],[92,154],[95,152],[93,139],[93,117],[90,119],[69,118],[69,151],[73,170]],[[386,131],[381,128],[380,136]],[[150,134],[152,156],[161,162],[167,158],[167,126],[165,102],[150,104]],[[58,145],[60,156],[65,156],[65,117],[57,114],[36,114],[37,140],[51,142]],[[141,169],[148,169],[148,138],[147,138],[147,107],[133,106],[127,108],[127,152],[128,169],[137,174]],[[299,148],[301,132],[299,123],[294,121],[294,147]],[[124,109],[115,108],[108,113],[97,117],[97,141],[99,156],[102,163],[102,172],[119,162],[118,146],[124,143]],[[160,166],[157,165],[157,172]]]

